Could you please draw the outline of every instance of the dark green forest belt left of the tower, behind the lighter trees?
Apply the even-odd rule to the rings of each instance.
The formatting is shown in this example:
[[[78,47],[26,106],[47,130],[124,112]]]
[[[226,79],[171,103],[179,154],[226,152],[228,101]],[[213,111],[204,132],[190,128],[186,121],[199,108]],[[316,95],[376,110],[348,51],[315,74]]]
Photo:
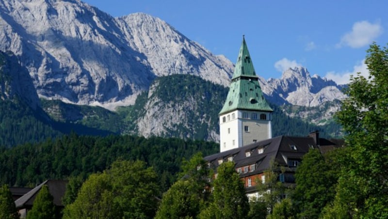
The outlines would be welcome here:
[[[175,181],[183,158],[214,154],[214,142],[135,136],[92,137],[75,133],[55,140],[0,149],[0,183],[26,186],[46,179],[65,179],[102,172],[114,160],[143,160],[158,173],[162,191]]]

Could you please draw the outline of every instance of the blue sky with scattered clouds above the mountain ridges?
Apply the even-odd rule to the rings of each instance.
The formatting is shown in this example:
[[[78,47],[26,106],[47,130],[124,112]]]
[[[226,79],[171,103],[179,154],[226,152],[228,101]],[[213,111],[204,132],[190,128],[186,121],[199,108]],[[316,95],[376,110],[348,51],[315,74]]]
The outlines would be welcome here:
[[[367,74],[369,45],[388,43],[386,0],[83,0],[114,17],[143,12],[236,62],[242,35],[255,70],[280,78],[301,65],[347,83],[350,74]]]

